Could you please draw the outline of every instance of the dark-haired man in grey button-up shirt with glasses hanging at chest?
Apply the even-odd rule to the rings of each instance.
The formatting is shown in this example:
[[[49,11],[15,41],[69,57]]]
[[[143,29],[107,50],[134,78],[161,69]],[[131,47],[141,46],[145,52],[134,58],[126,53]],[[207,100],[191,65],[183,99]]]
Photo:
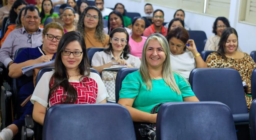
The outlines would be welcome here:
[[[42,31],[40,13],[37,7],[30,5],[25,8],[23,28],[13,30],[6,38],[0,49],[0,61],[7,68],[13,63],[17,49],[35,48],[42,44]]]

